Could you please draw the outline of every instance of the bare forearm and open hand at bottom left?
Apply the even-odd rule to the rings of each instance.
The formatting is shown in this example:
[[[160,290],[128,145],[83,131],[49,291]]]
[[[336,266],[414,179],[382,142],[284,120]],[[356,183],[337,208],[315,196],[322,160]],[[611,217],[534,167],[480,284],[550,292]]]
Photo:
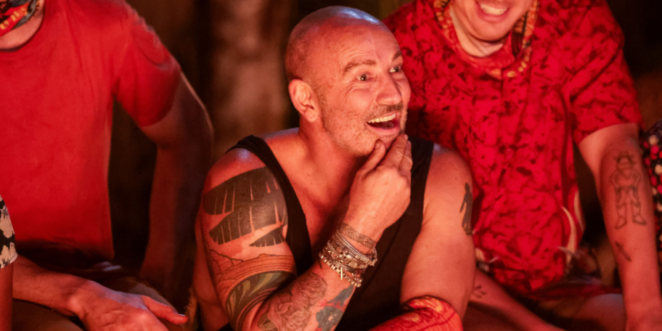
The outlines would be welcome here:
[[[13,297],[77,316],[86,330],[167,331],[157,319],[186,322],[174,309],[144,295],[121,293],[73,275],[52,272],[18,256],[13,263]]]

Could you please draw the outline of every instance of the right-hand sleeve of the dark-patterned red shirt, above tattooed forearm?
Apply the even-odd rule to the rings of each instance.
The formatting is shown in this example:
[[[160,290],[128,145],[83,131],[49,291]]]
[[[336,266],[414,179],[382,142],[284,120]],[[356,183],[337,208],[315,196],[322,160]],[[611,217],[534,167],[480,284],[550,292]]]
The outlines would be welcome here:
[[[576,143],[610,125],[641,123],[623,34],[607,3],[597,0],[570,33],[574,48],[569,70],[570,123]]]

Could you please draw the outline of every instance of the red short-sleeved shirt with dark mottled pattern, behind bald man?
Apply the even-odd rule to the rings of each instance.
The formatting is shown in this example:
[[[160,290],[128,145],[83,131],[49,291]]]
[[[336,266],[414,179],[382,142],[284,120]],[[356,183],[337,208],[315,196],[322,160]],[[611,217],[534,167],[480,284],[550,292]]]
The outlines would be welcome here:
[[[504,48],[476,59],[447,2],[416,0],[385,21],[412,86],[407,130],[463,155],[477,259],[509,290],[543,298],[584,230],[573,144],[640,122],[623,36],[604,0],[539,0]]]

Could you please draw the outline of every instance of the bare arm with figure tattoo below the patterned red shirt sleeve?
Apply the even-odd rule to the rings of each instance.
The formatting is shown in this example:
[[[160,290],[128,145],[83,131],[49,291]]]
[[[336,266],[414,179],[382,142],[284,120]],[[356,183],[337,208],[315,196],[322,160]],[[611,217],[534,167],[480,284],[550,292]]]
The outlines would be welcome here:
[[[638,126],[612,125],[579,144],[595,177],[607,235],[623,285],[628,330],[662,322],[652,193],[642,167]]]

